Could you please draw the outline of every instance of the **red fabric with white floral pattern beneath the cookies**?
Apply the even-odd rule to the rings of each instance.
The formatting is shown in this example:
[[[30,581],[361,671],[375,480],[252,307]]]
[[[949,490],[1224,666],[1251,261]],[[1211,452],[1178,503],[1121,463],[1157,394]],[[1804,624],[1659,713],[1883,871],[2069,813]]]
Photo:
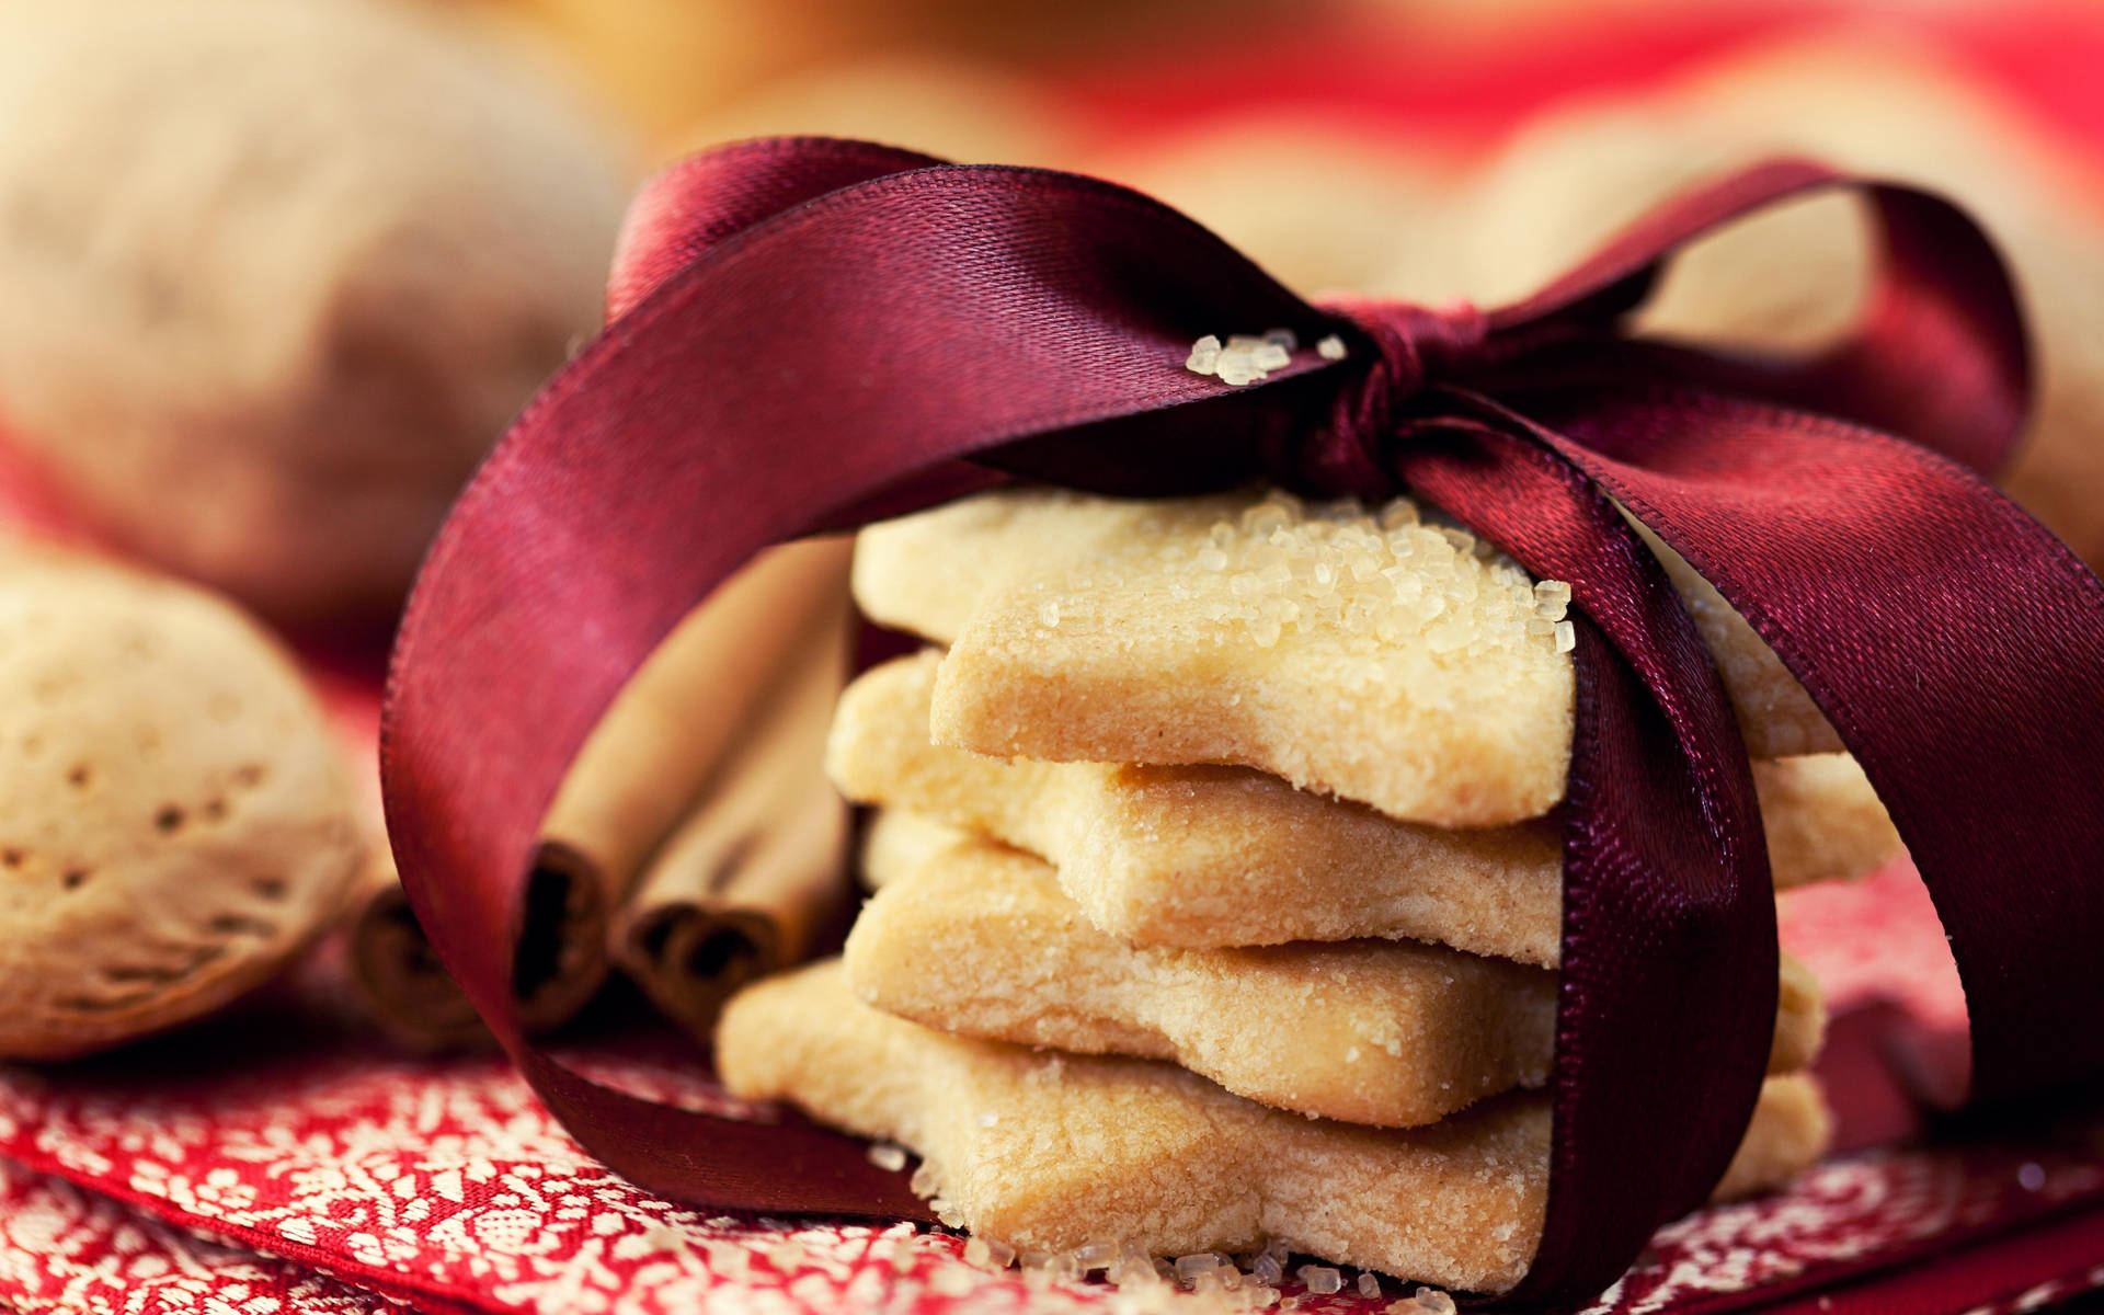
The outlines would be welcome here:
[[[1879,999],[1925,1023],[1961,1018],[1908,865],[1793,894],[1782,922],[1791,947],[1841,991],[1830,1073],[1864,1060],[1849,1020]],[[343,999],[332,957],[320,955],[187,1033],[0,1075],[0,1304],[38,1315],[997,1315],[1100,1311],[1115,1292],[983,1273],[947,1231],[673,1206],[581,1151],[503,1058],[404,1056]],[[564,1058],[650,1098],[749,1113],[696,1077],[692,1050],[667,1033]],[[1923,1271],[1931,1260],[1944,1269]],[[1940,1277],[1921,1290],[1919,1273]],[[2026,1142],[1841,1155],[1788,1193],[1666,1227],[1593,1313],[1736,1311],[1793,1296],[1826,1315],[1995,1313],[2100,1286],[2104,1128],[2075,1124]],[[1913,1296],[1896,1302],[1894,1292]],[[1401,1294],[1387,1281],[1368,1300],[1347,1286],[1304,1309],[1372,1313]]]

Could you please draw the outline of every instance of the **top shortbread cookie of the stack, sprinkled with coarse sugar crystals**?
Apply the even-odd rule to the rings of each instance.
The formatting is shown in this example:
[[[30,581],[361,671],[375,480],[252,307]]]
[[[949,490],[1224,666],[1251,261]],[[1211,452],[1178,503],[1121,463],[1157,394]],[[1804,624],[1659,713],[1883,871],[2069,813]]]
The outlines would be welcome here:
[[[943,743],[1241,764],[1443,827],[1563,795],[1570,591],[1408,499],[1002,490],[869,526],[856,555],[873,619],[953,644]],[[1839,747],[1795,711],[1772,736],[1763,709],[1795,705],[1769,684],[1795,682],[1729,608],[1704,616],[1757,755]]]

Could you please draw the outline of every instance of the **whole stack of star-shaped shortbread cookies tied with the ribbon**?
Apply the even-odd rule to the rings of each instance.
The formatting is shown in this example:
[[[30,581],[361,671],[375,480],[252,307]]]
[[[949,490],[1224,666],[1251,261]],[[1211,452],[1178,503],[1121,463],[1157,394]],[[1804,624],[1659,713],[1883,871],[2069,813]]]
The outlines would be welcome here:
[[[1778,886],[1898,837],[1833,728],[1685,564]],[[922,1155],[943,1218],[1052,1273],[1496,1292],[1549,1180],[1567,585],[1410,501],[1002,490],[871,526],[856,598],[940,648],[842,696],[882,808],[846,955],[724,1016],[745,1096]],[[1826,1140],[1784,957],[1719,1195]],[[1172,1265],[1170,1265],[1172,1262]],[[1368,1292],[1378,1279],[1361,1275]]]

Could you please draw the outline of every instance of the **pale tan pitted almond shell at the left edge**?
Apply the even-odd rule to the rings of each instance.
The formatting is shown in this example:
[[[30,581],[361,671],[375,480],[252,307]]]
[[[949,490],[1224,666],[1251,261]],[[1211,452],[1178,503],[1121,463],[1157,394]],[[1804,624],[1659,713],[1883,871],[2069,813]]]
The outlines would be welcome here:
[[[259,985],[364,858],[349,768],[225,602],[0,558],[0,1056],[63,1058]]]

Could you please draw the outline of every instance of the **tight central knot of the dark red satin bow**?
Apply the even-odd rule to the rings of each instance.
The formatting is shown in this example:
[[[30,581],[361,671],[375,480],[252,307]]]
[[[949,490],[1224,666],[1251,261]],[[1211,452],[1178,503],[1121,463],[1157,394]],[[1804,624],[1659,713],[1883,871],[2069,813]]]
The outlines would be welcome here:
[[[1466,301],[1422,307],[1370,297],[1330,297],[1326,311],[1349,320],[1372,360],[1330,404],[1330,423],[1307,433],[1281,484],[1317,497],[1387,501],[1401,492],[1393,442],[1412,404],[1435,383],[1466,377],[1485,358],[1490,318]]]

